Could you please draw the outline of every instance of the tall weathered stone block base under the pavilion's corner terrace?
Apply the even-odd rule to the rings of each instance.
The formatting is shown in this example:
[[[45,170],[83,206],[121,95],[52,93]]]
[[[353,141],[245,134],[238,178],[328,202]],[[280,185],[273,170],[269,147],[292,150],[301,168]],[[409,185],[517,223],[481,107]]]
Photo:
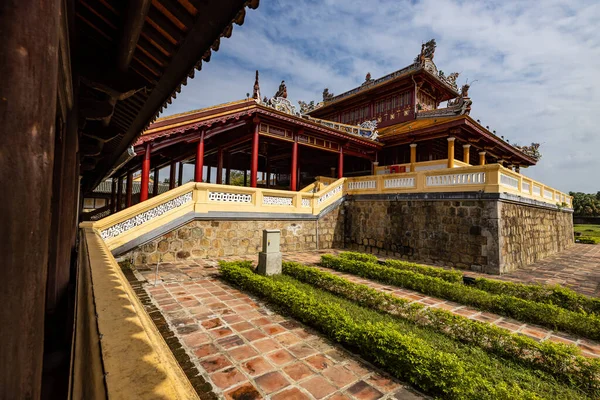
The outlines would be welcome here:
[[[573,243],[570,212],[499,199],[351,198],[344,227],[348,249],[490,274]]]

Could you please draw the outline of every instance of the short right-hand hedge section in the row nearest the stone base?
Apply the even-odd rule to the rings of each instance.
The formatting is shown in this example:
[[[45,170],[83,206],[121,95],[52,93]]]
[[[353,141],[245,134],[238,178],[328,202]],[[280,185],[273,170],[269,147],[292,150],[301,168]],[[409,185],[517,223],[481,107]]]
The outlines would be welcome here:
[[[538,303],[554,304],[566,310],[600,314],[600,299],[581,295],[560,285],[526,285],[478,278],[474,287],[488,293],[506,294]]]

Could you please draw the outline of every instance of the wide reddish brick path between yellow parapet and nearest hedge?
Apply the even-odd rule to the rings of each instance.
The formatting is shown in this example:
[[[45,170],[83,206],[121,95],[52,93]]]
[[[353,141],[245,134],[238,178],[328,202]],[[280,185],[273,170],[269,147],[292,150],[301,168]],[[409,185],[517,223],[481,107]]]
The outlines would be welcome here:
[[[214,261],[138,270],[215,393],[228,399],[421,399],[397,380],[216,278]]]

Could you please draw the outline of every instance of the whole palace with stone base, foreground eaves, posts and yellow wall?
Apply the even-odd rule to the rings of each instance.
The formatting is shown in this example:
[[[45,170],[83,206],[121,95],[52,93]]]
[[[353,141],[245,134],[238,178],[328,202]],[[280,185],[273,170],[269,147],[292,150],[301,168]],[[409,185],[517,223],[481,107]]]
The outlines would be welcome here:
[[[470,117],[469,85],[438,70],[434,40],[317,103],[292,104],[285,82],[265,96],[256,72],[245,99],[159,118],[258,0],[9,3],[0,398],[206,392],[117,261],[255,257],[278,229],[283,252],[502,274],[573,242],[570,196],[522,174],[539,146]]]

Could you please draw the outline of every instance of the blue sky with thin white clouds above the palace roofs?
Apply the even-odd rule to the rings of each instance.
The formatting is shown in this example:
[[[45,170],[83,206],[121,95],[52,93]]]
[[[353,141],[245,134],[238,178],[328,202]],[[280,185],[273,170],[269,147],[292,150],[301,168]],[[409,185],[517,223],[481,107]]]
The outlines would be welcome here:
[[[320,101],[410,64],[435,62],[469,92],[471,116],[511,143],[541,143],[522,170],[563,191],[600,190],[600,2],[262,0],[161,115],[262,95]],[[186,170],[187,174],[187,170]]]

